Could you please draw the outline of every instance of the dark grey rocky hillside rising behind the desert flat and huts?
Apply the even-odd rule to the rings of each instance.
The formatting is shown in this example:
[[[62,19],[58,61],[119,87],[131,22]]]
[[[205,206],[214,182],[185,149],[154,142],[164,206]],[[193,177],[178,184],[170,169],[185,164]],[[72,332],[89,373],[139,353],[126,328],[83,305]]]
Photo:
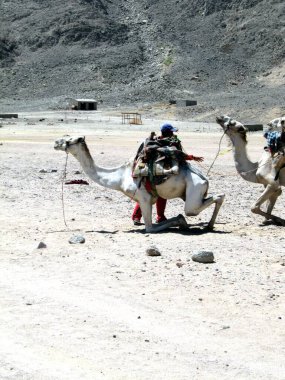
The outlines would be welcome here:
[[[195,99],[180,117],[279,116],[284,14],[283,0],[2,0],[0,106]]]

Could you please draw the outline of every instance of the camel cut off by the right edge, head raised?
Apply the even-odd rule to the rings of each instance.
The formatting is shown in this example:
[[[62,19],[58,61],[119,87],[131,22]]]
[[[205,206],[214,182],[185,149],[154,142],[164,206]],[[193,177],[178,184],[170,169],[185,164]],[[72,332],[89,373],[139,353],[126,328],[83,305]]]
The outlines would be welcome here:
[[[279,119],[278,119],[279,120]],[[278,126],[278,120],[269,123],[269,126]],[[280,120],[279,120],[280,121]],[[285,186],[285,157],[278,158],[278,178],[273,168],[273,158],[269,151],[264,151],[258,162],[252,162],[247,154],[247,129],[240,122],[229,116],[217,117],[217,123],[223,128],[224,133],[230,138],[233,145],[233,156],[237,172],[246,181],[260,183],[264,191],[258,200],[252,205],[251,211],[271,219],[277,224],[285,225],[285,220],[272,215],[272,210],[277,198],[281,195],[281,186]],[[266,211],[261,210],[261,205],[267,202]]]

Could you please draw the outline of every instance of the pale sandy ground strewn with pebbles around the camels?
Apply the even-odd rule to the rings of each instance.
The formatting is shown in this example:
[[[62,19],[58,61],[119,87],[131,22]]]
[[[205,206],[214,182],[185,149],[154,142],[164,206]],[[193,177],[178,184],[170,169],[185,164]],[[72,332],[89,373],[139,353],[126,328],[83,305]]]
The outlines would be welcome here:
[[[211,208],[187,218],[189,231],[145,234],[132,225],[134,203],[91,183],[72,157],[67,179],[90,185],[62,194],[56,138],[84,134],[96,163],[113,167],[160,122],[52,112],[1,121],[1,380],[285,378],[284,227],[251,214],[262,188],[236,174],[226,140],[209,175],[210,192],[226,193],[213,232],[204,229]],[[219,129],[175,125],[207,172]],[[250,134],[253,159],[263,144]],[[167,216],[178,213],[183,202],[169,201]],[[74,234],[86,242],[69,244]],[[146,256],[153,244],[160,257]],[[201,249],[214,264],[191,260]]]

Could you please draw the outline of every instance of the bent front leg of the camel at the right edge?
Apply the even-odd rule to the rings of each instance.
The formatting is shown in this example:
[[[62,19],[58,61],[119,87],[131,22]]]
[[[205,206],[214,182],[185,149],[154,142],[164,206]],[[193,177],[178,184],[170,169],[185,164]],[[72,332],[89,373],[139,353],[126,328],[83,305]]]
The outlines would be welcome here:
[[[273,202],[274,202],[274,197],[277,199],[280,194],[281,194],[281,189],[279,187],[276,189],[276,186],[272,186],[272,185],[266,186],[264,192],[258,198],[256,203],[251,207],[251,211],[254,214],[264,216],[264,218],[266,218],[266,219],[271,219],[275,223],[278,223],[278,224],[281,224],[282,226],[285,226],[285,220],[284,219],[279,218],[278,216],[272,215],[271,213],[268,212],[268,209],[267,209],[267,212],[265,212],[265,211],[262,211],[260,208],[264,202],[269,200],[268,208],[270,211],[270,207],[272,205],[272,203],[270,203],[270,200],[273,199]],[[275,202],[276,202],[276,199],[275,199]],[[273,209],[274,203],[272,205],[272,209]],[[271,211],[272,211],[272,209],[271,209]]]

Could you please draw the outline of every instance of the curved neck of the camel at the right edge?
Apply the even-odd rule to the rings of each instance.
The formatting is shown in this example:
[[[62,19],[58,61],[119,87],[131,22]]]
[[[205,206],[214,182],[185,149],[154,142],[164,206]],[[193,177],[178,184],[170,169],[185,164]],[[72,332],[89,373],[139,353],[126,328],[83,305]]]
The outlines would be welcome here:
[[[249,182],[257,182],[256,171],[258,168],[257,162],[252,162],[247,153],[246,142],[240,137],[233,141],[233,155],[235,166],[240,176]]]

